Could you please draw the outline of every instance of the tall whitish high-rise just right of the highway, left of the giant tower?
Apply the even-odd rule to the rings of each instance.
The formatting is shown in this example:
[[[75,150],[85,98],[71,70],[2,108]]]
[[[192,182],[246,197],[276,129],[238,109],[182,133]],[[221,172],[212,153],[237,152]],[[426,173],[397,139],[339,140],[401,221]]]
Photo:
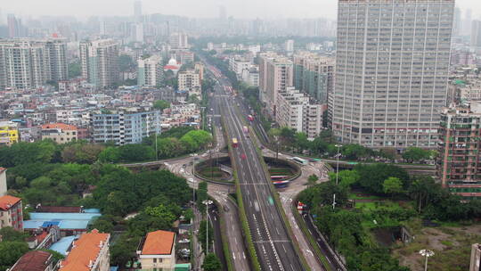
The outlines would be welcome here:
[[[259,55],[259,97],[267,113],[275,119],[277,95],[292,86],[292,62],[277,53]]]

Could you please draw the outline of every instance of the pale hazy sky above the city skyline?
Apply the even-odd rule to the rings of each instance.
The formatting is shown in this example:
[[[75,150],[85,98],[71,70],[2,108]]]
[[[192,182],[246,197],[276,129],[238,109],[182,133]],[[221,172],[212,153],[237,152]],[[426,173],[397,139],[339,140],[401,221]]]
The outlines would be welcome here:
[[[134,0],[2,0],[2,13],[27,15],[131,15]],[[175,14],[189,17],[217,17],[223,4],[235,18],[336,18],[337,0],[143,0],[143,13]],[[457,5],[481,15],[481,1],[457,0]]]

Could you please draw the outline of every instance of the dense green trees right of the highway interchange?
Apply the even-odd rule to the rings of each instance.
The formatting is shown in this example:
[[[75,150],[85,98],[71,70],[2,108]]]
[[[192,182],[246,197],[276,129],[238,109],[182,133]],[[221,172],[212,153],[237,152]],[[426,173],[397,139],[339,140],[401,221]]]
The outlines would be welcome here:
[[[379,201],[360,201],[355,195],[359,191]],[[481,218],[481,201],[461,201],[432,177],[409,177],[403,168],[386,164],[340,171],[338,185],[331,174],[329,182],[310,185],[298,199],[309,206],[316,226],[346,257],[349,270],[409,270],[374,239],[376,229],[406,226],[412,219],[452,223]]]

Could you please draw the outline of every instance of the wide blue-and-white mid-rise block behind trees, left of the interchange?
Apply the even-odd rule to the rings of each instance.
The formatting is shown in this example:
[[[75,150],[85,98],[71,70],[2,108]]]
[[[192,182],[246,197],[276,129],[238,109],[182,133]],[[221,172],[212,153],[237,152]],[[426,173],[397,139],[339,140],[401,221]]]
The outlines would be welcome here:
[[[94,143],[140,144],[143,138],[160,134],[160,111],[94,112]]]

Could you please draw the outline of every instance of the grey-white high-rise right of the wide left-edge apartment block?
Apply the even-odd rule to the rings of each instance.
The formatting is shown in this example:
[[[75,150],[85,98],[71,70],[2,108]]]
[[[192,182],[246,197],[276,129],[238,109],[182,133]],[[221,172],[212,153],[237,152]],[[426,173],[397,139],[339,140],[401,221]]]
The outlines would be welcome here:
[[[80,43],[82,77],[96,87],[114,86],[118,82],[118,43],[113,39]]]

